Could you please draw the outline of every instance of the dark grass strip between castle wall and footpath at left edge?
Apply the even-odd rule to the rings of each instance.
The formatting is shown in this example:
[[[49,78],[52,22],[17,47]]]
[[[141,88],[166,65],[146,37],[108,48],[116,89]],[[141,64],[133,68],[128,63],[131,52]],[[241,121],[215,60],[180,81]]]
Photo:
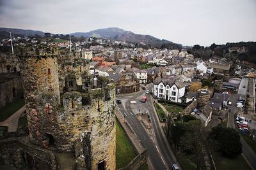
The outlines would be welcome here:
[[[25,101],[24,99],[20,99],[19,101],[15,101],[11,104],[8,104],[8,106],[2,108],[0,110],[0,122],[3,122],[8,117],[12,116],[13,113],[15,113],[17,110],[22,108],[24,106]]]

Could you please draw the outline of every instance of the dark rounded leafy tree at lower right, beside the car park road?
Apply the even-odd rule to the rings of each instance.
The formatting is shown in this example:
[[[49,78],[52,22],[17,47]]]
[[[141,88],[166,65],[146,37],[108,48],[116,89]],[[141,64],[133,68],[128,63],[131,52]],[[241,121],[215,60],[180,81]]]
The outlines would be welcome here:
[[[214,127],[211,138],[218,141],[220,152],[228,158],[234,158],[242,153],[240,136],[235,129],[228,127]]]

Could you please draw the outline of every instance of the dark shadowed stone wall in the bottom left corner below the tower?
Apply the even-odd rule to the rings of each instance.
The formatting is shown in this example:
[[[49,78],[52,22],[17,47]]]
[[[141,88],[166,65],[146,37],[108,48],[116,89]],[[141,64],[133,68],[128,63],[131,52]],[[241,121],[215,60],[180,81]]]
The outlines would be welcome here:
[[[0,159],[17,169],[57,169],[54,152],[28,143],[28,137],[1,140]]]

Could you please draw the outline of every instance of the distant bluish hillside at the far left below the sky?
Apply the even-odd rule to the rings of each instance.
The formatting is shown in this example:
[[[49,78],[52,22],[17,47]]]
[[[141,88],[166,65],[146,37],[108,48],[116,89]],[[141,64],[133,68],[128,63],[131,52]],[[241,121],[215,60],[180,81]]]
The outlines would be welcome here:
[[[35,34],[38,34],[40,36],[44,36],[44,32],[42,31],[33,31],[30,29],[13,29],[13,28],[3,28],[0,27],[0,37],[4,37],[6,35],[6,32],[8,32],[9,37],[10,37],[10,32],[12,34],[17,34],[17,35],[23,35],[23,36],[35,36]]]

